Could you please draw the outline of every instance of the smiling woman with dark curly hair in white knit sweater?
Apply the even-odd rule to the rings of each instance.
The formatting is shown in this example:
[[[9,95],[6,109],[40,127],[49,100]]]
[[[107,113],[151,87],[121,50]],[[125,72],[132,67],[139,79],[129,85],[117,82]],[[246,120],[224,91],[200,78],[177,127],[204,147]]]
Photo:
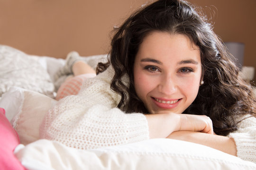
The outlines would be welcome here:
[[[46,114],[42,138],[88,149],[168,137],[256,162],[252,88],[192,5],[155,1],[117,29],[111,47],[98,75]],[[76,75],[85,63],[75,61],[67,66]]]

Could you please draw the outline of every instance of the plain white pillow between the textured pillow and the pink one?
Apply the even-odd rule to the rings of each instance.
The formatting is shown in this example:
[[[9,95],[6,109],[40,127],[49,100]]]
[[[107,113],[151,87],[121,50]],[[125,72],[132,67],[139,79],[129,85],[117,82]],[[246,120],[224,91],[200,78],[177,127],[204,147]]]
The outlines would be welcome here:
[[[39,139],[39,127],[47,111],[56,101],[44,94],[11,87],[0,99],[0,107],[17,131],[20,143],[29,144]]]

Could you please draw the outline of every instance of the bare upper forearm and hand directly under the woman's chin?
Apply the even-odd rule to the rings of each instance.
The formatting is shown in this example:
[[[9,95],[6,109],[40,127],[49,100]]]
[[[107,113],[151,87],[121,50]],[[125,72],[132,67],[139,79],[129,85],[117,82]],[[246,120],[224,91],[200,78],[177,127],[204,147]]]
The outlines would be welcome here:
[[[211,119],[202,115],[176,114],[159,111],[146,115],[150,138],[165,138],[175,131],[194,131],[213,134]]]

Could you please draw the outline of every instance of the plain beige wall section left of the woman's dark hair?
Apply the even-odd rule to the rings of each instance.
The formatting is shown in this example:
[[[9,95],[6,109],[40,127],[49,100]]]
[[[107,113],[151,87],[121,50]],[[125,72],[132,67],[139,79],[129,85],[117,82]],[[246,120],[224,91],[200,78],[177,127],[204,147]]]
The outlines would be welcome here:
[[[145,0],[0,0],[0,44],[65,58],[107,53],[110,31]]]

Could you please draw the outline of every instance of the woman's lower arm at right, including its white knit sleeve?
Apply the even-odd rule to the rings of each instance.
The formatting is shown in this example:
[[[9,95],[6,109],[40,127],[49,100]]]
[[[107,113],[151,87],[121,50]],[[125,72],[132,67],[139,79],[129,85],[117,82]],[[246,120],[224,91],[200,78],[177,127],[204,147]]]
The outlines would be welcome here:
[[[250,115],[247,115],[249,117]],[[250,117],[238,124],[238,130],[228,136],[210,135],[200,132],[179,131],[167,138],[203,144],[222,152],[256,163],[256,118]]]

